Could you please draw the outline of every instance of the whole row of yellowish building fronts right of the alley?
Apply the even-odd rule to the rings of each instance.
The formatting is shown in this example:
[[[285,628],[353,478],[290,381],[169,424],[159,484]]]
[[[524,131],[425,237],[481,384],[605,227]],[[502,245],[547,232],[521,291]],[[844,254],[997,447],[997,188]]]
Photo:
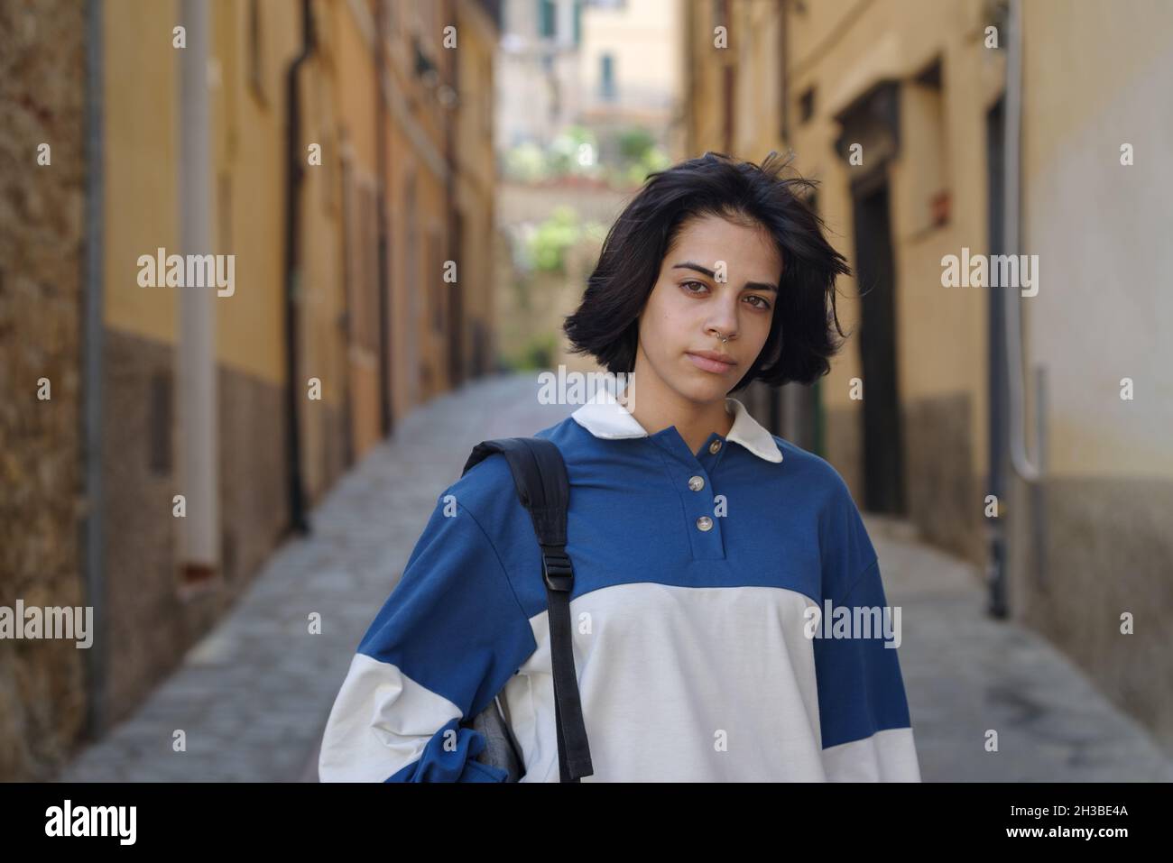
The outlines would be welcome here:
[[[1173,679],[1169,7],[686,8],[690,152],[793,149],[854,270],[854,338],[784,396],[781,434],[861,508],[984,569],[996,614],[1173,749],[1173,689],[1154,685]]]

